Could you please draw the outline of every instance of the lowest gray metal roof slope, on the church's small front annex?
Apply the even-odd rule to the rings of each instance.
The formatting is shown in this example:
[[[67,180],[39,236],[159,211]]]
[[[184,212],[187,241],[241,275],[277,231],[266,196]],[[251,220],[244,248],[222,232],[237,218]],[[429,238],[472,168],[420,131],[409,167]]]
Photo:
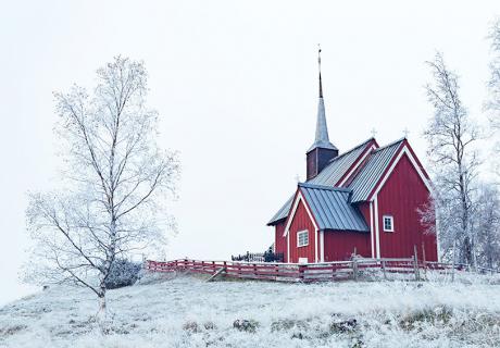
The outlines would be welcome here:
[[[368,232],[358,207],[350,203],[350,189],[299,184],[320,229]]]

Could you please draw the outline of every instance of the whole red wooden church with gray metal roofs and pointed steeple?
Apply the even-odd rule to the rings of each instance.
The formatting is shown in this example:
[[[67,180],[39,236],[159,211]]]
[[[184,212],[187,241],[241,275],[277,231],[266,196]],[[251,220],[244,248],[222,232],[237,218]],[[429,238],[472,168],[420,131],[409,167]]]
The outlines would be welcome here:
[[[329,141],[320,72],[316,135],[307,151],[307,182],[267,223],[285,262],[366,258],[437,261],[437,238],[417,209],[429,200],[429,177],[407,138],[380,147],[375,138],[339,153]]]

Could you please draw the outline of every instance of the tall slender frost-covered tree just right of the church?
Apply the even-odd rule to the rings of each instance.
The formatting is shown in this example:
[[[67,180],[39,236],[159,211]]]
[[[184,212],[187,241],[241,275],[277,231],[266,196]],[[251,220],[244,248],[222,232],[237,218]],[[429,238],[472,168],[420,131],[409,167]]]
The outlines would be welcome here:
[[[478,166],[474,141],[478,132],[460,99],[457,74],[446,66],[440,53],[427,63],[433,82],[426,91],[434,116],[424,135],[433,163],[441,250],[453,262],[474,264],[475,234],[471,220]]]

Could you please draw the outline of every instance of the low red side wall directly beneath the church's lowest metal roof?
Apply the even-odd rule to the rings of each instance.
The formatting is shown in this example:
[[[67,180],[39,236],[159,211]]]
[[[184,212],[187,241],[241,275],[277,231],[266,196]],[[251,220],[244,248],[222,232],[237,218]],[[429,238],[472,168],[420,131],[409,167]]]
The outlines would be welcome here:
[[[325,262],[345,261],[351,258],[357,249],[357,253],[365,258],[372,257],[370,246],[370,234],[347,231],[325,231]]]

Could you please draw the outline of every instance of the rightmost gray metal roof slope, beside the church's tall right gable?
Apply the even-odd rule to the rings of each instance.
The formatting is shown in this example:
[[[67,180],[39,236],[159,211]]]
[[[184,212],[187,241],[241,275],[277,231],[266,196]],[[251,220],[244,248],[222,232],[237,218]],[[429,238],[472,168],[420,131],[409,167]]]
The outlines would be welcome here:
[[[349,184],[349,188],[352,189],[352,202],[365,201],[370,198],[370,194],[403,141],[404,138],[378,148],[370,154],[366,164]]]

